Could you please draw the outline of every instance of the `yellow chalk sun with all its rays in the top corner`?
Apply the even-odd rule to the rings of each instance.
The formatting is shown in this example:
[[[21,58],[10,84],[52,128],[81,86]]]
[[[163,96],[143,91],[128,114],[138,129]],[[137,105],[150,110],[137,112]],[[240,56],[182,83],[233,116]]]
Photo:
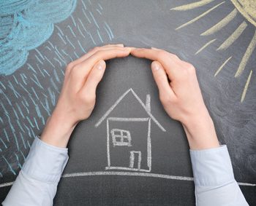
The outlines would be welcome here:
[[[215,0],[202,0],[202,1],[196,1],[190,4],[184,4],[179,7],[171,8],[170,10],[173,11],[189,11],[192,9],[197,9],[199,7],[203,7],[206,4],[210,4],[212,1]],[[225,26],[230,23],[232,20],[235,19],[235,17],[240,13],[244,16],[245,20],[238,25],[238,27],[230,33],[230,36],[225,39],[225,41],[222,42],[221,45],[217,48],[218,52],[223,52],[228,47],[232,47],[232,44],[235,41],[238,41],[238,38],[240,36],[243,36],[243,32],[246,30],[246,27],[248,26],[248,23],[254,25],[256,27],[256,1],[255,0],[231,0],[231,2],[234,5],[234,9],[232,12],[227,13],[226,17],[224,17],[222,20],[219,21],[219,23],[215,25],[211,25],[210,28],[207,28],[206,31],[200,34],[200,36],[214,36],[218,31],[220,31],[222,28],[225,28]],[[206,9],[205,12],[200,13],[200,15],[197,15],[197,17],[193,18],[192,20],[187,21],[186,23],[178,26],[176,28],[176,31],[180,30],[181,28],[187,27],[188,25],[191,25],[192,23],[195,23],[197,20],[200,20],[201,18],[206,17],[208,13],[214,12],[214,10],[221,9],[222,5],[225,4],[225,1],[221,1],[219,4],[217,3],[214,7],[211,7],[210,9]],[[241,62],[236,70],[235,77],[238,78],[239,76],[243,75],[244,70],[246,69],[246,64],[249,61],[249,58],[251,58],[252,52],[255,50],[256,46],[256,30],[254,33],[252,33],[251,41],[249,45],[247,46],[246,52],[244,52],[244,56],[241,59]],[[199,54],[203,51],[203,49],[206,49],[206,47],[209,47],[211,44],[214,43],[217,39],[211,39],[206,44],[203,45],[200,49],[195,52],[195,55]],[[233,56],[230,56],[227,58],[221,66],[217,69],[214,76],[217,76],[223,68],[225,68],[225,65],[231,61]],[[246,92],[249,88],[249,83],[251,81],[253,70],[250,70],[249,76],[247,77],[247,80],[244,84],[244,90],[241,93],[241,102],[244,101],[246,97]]]

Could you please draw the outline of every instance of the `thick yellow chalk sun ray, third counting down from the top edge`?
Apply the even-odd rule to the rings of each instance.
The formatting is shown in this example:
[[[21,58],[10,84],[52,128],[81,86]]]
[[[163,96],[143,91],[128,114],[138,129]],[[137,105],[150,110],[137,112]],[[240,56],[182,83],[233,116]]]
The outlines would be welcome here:
[[[233,11],[230,12],[229,15],[227,15],[224,19],[219,21],[219,23],[217,23],[213,27],[209,28],[207,31],[201,33],[200,36],[208,36],[208,35],[211,35],[217,31],[221,30],[223,27],[225,27],[225,25],[230,23],[230,21],[233,20],[234,17],[236,17],[237,13],[238,13],[238,11],[236,9],[233,9]]]

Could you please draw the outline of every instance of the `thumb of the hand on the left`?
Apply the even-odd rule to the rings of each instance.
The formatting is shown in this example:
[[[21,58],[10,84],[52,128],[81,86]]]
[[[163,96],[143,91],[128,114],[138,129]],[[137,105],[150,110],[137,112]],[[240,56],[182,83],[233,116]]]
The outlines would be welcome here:
[[[96,94],[96,89],[99,82],[102,80],[102,77],[105,73],[106,63],[104,60],[99,60],[94,67],[91,69],[89,76],[87,77],[86,83],[81,89],[81,92],[90,96]]]

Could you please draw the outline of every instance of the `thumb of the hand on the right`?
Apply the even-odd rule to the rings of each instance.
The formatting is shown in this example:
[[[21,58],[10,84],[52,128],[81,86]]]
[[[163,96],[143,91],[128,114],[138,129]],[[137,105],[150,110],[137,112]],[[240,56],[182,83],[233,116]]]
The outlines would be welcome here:
[[[157,83],[160,96],[169,95],[170,98],[175,98],[176,95],[170,87],[167,74],[165,73],[164,68],[162,68],[162,65],[159,62],[154,61],[151,63],[151,69],[154,76],[154,81]]]

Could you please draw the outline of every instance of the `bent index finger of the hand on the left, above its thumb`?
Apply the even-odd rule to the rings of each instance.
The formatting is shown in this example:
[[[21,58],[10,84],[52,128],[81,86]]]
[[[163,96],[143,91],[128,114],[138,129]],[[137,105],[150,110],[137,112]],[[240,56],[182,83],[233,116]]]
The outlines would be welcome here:
[[[91,55],[88,59],[84,60],[77,66],[78,75],[79,76],[86,76],[91,71],[91,68],[97,63],[99,60],[110,60],[112,58],[124,58],[129,55],[130,52],[129,47],[125,47],[122,49],[104,49],[99,50]]]

